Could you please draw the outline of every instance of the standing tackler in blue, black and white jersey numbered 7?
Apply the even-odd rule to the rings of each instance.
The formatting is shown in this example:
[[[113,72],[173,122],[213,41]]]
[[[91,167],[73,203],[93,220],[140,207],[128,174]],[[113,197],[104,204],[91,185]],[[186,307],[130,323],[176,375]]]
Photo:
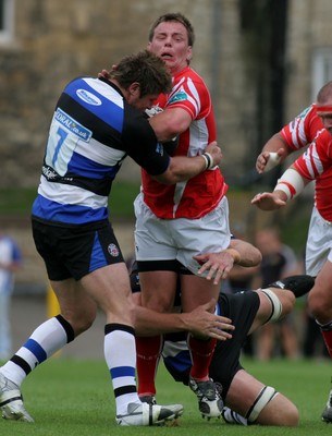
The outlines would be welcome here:
[[[169,157],[142,112],[170,88],[164,63],[145,50],[123,58],[109,80],[79,77],[61,94],[32,211],[35,244],[61,314],[41,324],[1,366],[4,419],[34,421],[24,408],[21,384],[38,364],[88,329],[98,306],[106,314],[104,359],[116,423],[153,425],[182,414],[181,404],[150,407],[138,398],[134,304],[108,210],[112,182],[126,155],[161,183],[207,170],[201,156]],[[207,152],[218,165],[219,147],[211,144]]]

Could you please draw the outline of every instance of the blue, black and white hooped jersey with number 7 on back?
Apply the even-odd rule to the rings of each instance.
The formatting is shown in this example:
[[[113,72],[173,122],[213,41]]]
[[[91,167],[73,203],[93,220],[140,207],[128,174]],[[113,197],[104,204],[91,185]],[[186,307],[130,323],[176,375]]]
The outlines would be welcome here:
[[[169,165],[143,112],[115,85],[74,80],[53,114],[33,216],[71,225],[107,219],[112,182],[126,155],[151,174]]]

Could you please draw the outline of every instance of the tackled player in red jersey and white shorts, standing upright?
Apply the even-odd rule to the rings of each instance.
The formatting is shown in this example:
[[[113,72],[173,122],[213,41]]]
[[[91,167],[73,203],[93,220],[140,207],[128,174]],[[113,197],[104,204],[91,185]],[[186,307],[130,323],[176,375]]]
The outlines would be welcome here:
[[[142,191],[135,199],[136,259],[142,284],[142,303],[160,313],[170,311],[174,301],[177,264],[182,264],[182,308],[192,312],[217,299],[219,287],[197,271],[197,254],[225,250],[231,240],[228,185],[218,167],[205,153],[216,140],[216,122],[210,93],[202,78],[189,66],[195,35],[189,21],[180,13],[161,15],[152,24],[148,49],[160,57],[173,78],[171,93],[153,104],[150,123],[160,141],[177,137],[174,156],[202,155],[208,171],[190,181],[165,186],[142,171]],[[160,355],[161,337],[138,338],[138,393],[152,392],[142,387],[144,373],[155,372]],[[209,378],[209,363],[214,339],[189,336],[193,366],[189,387],[198,398],[204,416],[221,415],[222,400]]]

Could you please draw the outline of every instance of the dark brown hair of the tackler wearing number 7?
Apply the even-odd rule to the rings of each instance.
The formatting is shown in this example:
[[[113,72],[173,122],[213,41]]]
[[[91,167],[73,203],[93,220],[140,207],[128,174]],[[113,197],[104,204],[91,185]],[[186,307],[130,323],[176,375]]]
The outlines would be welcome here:
[[[110,78],[127,89],[132,83],[140,85],[140,97],[148,94],[168,94],[172,89],[172,77],[162,59],[148,50],[121,59],[110,71]]]

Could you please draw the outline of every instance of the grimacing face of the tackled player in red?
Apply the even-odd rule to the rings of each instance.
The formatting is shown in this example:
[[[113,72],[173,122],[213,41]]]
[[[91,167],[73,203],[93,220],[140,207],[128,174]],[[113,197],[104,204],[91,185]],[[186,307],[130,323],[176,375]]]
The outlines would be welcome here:
[[[172,74],[182,71],[192,59],[187,31],[182,23],[173,21],[160,23],[155,28],[148,49],[163,59]]]

